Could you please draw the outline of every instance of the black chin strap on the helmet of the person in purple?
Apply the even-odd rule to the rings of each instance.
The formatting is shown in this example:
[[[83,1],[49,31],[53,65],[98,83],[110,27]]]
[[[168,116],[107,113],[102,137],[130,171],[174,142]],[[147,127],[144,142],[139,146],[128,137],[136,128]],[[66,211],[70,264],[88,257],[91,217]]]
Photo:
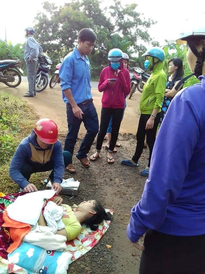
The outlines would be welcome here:
[[[196,60],[196,66],[194,68],[194,73],[186,76],[185,78],[181,79],[179,81],[179,83],[175,86],[175,89],[178,90],[179,87],[184,84],[184,82],[192,77],[193,75],[195,75],[197,78],[202,75],[202,69],[203,69],[203,64],[204,64],[204,60],[205,60],[205,49],[203,49],[202,51],[198,52],[198,50],[196,49],[195,44],[192,41],[187,41],[188,46],[190,47],[192,53],[196,56],[197,60]]]

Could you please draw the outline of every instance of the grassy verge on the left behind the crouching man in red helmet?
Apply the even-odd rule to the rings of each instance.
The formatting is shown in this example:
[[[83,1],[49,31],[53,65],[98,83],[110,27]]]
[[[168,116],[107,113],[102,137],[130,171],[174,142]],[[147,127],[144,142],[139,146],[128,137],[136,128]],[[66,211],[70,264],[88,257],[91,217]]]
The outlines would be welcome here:
[[[0,192],[4,194],[19,191],[9,177],[9,165],[17,146],[30,134],[37,120],[38,116],[26,102],[0,92]],[[32,174],[30,182],[42,189],[42,182],[47,177],[48,172]]]

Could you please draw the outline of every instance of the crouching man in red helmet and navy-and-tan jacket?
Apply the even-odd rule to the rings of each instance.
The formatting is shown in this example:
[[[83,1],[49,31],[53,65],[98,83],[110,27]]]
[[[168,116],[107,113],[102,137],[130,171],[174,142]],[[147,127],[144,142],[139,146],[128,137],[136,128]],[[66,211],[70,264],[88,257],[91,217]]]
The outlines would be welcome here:
[[[24,138],[9,167],[9,175],[20,188],[26,192],[37,191],[34,184],[29,183],[32,173],[52,170],[49,178],[52,189],[58,194],[61,191],[61,182],[65,166],[71,163],[72,156],[62,150],[58,140],[58,127],[50,119],[39,120],[31,134]]]

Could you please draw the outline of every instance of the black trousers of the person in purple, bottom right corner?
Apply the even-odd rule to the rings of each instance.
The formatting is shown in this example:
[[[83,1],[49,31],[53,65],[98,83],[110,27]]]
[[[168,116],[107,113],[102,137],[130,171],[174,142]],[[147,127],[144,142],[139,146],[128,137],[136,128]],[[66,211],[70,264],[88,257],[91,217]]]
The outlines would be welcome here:
[[[205,235],[174,236],[149,229],[139,274],[204,274]]]

